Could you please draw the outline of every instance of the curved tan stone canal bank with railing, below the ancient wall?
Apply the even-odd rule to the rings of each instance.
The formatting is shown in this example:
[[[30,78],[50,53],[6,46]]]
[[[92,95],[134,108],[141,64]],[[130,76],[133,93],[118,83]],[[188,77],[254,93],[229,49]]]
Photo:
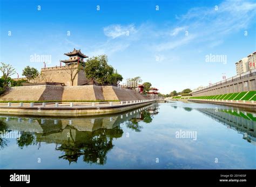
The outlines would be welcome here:
[[[156,102],[154,99],[99,103],[1,103],[1,114],[31,116],[96,116],[124,112]]]

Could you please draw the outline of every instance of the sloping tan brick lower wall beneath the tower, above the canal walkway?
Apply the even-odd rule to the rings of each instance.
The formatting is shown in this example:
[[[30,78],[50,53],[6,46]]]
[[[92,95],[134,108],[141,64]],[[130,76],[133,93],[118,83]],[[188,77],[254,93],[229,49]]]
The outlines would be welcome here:
[[[134,90],[112,86],[80,85],[56,87],[33,85],[10,87],[0,100],[141,100],[149,99]]]

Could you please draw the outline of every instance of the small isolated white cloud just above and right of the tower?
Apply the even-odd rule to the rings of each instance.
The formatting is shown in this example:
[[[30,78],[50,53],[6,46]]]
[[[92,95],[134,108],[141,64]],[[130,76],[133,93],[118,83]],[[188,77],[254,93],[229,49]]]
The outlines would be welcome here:
[[[103,28],[104,34],[112,39],[121,37],[123,35],[130,35],[136,32],[133,24],[122,26],[122,25],[109,25]]]

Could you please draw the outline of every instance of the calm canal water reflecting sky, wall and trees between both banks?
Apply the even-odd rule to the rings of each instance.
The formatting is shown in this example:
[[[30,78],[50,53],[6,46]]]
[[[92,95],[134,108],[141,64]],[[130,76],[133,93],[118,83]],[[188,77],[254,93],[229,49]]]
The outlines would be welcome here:
[[[1,169],[256,169],[256,114],[220,105],[159,103],[93,118],[0,115],[0,131]]]

